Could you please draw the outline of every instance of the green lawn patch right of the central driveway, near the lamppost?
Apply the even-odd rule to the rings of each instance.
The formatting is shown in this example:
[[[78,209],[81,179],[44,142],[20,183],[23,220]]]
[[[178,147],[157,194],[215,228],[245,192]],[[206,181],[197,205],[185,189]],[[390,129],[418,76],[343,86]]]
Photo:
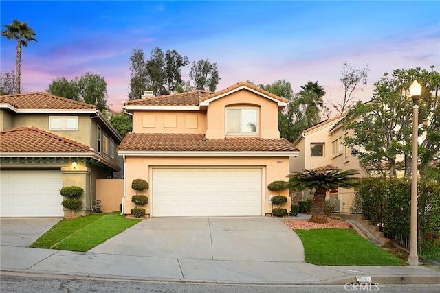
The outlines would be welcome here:
[[[295,230],[305,261],[325,266],[401,266],[406,262],[349,229]]]

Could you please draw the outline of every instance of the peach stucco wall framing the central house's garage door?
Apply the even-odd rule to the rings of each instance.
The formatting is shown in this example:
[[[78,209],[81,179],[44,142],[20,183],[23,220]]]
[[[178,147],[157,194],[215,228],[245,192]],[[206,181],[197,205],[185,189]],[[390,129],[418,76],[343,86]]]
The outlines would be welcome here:
[[[131,182],[134,179],[142,178],[151,185],[150,176],[152,168],[159,166],[168,167],[261,167],[263,169],[263,214],[272,213],[272,205],[269,202],[270,194],[273,191],[267,189],[267,185],[276,180],[287,180],[286,176],[289,173],[289,159],[287,157],[126,157],[126,165],[130,167],[126,169],[125,188],[126,194],[124,198],[123,213],[129,214],[130,210],[135,207],[131,202],[131,196],[135,195],[135,191],[131,189]],[[151,186],[152,187],[152,186]],[[151,187],[142,194],[148,196],[151,202]],[[274,194],[274,195],[278,195]],[[288,202],[283,204],[282,208],[290,211],[289,191],[283,190],[281,195],[287,196]],[[145,207],[146,213],[150,214],[151,204],[148,203]]]

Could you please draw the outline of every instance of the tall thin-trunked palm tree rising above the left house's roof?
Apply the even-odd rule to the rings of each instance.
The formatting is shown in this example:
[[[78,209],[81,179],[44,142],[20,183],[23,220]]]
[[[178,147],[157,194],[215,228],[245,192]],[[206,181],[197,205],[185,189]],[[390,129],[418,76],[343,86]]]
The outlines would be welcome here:
[[[34,29],[28,27],[28,22],[22,23],[18,19],[14,19],[10,25],[3,25],[6,30],[1,31],[1,35],[8,40],[17,40],[17,65],[15,71],[15,92],[20,93],[21,81],[21,46],[28,47],[32,41],[37,41],[34,36]]]

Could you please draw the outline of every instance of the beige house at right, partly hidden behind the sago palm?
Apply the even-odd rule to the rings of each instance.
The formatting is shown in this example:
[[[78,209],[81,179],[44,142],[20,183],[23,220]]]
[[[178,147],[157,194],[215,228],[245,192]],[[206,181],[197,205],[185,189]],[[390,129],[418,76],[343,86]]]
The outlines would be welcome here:
[[[347,113],[343,113],[321,121],[300,134],[294,141],[300,154],[290,159],[290,172],[333,165],[342,170],[356,169],[360,172],[357,175],[360,177],[367,175],[351,148],[344,145],[344,137],[352,134],[351,131],[342,129],[342,120],[346,115]],[[309,191],[303,191],[303,198],[308,195]],[[354,195],[352,190],[340,189],[338,193],[329,194],[327,198],[336,204],[336,211],[347,213],[353,211]]]

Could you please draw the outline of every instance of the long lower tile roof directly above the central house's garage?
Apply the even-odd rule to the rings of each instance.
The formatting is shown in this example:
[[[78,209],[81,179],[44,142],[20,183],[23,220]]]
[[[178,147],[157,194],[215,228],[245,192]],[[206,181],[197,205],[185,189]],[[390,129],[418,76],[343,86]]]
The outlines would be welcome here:
[[[204,134],[126,134],[118,150],[189,152],[292,152],[298,149],[287,139],[236,137],[206,139]]]

